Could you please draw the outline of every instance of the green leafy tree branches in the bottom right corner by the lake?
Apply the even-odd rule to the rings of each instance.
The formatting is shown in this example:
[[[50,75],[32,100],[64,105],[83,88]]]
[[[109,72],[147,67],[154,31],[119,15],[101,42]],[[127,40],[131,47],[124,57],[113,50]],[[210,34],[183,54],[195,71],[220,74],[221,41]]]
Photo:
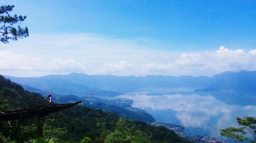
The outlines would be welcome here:
[[[237,117],[239,127],[229,127],[221,130],[221,135],[231,138],[235,142],[256,142],[256,118],[246,116]],[[250,139],[252,138],[252,139]]]

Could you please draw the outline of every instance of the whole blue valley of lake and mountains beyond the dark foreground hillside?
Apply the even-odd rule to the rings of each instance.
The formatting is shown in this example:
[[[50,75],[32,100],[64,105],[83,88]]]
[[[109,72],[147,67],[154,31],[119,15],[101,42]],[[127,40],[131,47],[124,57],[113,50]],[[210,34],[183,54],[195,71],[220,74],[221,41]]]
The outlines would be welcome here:
[[[247,78],[253,79],[255,75],[256,72],[242,71],[239,73],[225,72],[210,78],[190,76],[89,76],[81,73],[33,78],[6,77],[23,84],[24,88],[31,92],[37,92],[45,96],[52,93],[54,102],[75,102],[85,99],[87,98],[86,95],[93,93],[93,98],[82,103],[84,106],[117,113],[125,119],[155,125],[161,125],[161,123],[173,124],[179,126],[178,130],[166,127],[190,139],[193,137],[198,139],[201,136],[201,138],[225,140],[226,138],[223,138],[219,133],[220,129],[235,125],[237,116],[256,116],[256,92],[252,88],[255,80],[249,80],[250,83],[246,83],[250,84],[251,88],[240,83],[240,81]],[[162,78],[162,80],[159,80],[159,78]],[[114,81],[121,83],[120,89],[116,88],[118,85]],[[229,88],[226,88],[227,90],[218,89],[216,87],[217,82],[223,84],[221,87],[229,85]],[[53,83],[54,87],[48,88]],[[232,85],[229,83],[232,83]],[[88,87],[88,84],[92,87]],[[105,84],[108,85],[108,88],[97,89],[102,88]],[[216,88],[210,88],[213,86]],[[47,91],[44,91],[46,89]],[[54,90],[51,91],[51,89]],[[77,92],[80,89],[82,90]],[[90,90],[83,94],[77,94],[88,89]]]

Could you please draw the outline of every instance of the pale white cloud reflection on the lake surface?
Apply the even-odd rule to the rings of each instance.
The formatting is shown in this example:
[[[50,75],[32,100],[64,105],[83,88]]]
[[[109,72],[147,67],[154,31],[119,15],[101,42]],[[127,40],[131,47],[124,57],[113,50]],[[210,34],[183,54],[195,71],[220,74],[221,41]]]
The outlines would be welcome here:
[[[145,94],[135,96],[125,96],[133,98],[133,106],[139,108],[150,107],[155,110],[173,109],[185,112],[203,112],[206,115],[217,116],[220,112],[230,112],[230,108],[212,96],[199,95],[163,95],[147,96]],[[157,102],[156,102],[157,101]],[[221,106],[220,106],[221,105]]]

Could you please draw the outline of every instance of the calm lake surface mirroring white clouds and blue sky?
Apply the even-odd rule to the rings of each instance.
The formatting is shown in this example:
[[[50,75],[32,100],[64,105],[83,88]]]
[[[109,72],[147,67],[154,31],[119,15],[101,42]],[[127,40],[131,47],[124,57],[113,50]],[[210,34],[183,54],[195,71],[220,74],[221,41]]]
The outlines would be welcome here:
[[[133,99],[133,107],[146,110],[157,122],[180,124],[193,135],[220,137],[220,129],[238,126],[236,116],[255,117],[256,114],[254,105],[229,105],[210,95],[148,96],[145,93],[131,93],[121,97]]]

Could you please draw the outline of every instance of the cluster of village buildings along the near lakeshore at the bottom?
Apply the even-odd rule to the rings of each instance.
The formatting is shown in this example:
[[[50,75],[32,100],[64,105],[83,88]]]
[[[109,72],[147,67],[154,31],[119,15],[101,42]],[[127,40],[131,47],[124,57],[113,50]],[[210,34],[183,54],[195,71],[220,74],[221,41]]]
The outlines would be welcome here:
[[[176,134],[197,143],[227,143],[226,141],[223,141],[218,138],[186,135],[183,133],[183,130],[185,129],[185,127],[175,125],[175,124],[158,122],[158,123],[153,123],[153,125],[166,127],[170,130],[173,130]]]

